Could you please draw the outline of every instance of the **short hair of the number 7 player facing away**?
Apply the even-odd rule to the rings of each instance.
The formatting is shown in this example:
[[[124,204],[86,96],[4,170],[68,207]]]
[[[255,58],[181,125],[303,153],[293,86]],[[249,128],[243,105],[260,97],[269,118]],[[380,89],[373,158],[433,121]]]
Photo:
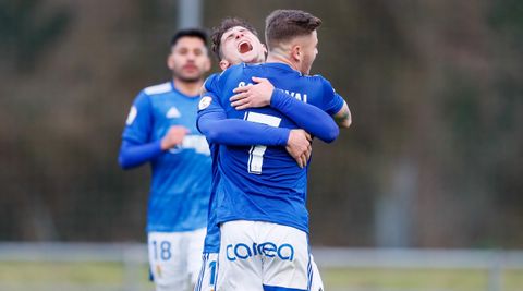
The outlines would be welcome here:
[[[265,41],[270,49],[281,41],[308,35],[321,20],[302,10],[275,10],[265,19]]]

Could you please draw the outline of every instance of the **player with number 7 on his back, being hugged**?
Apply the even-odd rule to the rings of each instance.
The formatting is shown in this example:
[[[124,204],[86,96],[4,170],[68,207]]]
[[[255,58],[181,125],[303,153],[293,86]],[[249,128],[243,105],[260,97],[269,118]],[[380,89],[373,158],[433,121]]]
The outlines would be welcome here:
[[[307,116],[306,110],[301,112],[305,113],[305,118],[300,118],[292,110],[285,110],[291,108],[293,101],[301,99],[330,114],[344,116],[341,124],[350,124],[346,104],[333,93],[327,81],[319,76],[305,77],[293,70],[308,73],[316,54],[315,28],[319,26],[319,20],[301,11],[277,11],[268,17],[267,28],[273,28],[271,25],[275,23],[279,26],[294,26],[279,44],[290,48],[287,59],[276,58],[277,51],[280,52],[282,47],[273,45],[276,50],[269,51],[269,61],[275,63],[233,66],[215,82],[211,92],[214,90],[216,96],[202,99],[203,113],[198,119],[199,128],[208,138],[214,135],[215,129],[207,128],[208,124],[204,121],[207,116],[216,114],[217,107],[224,108],[228,118],[244,117],[253,122],[283,129],[293,129],[296,125],[308,128],[307,131],[317,132],[319,137],[321,132],[315,128],[315,123],[321,123],[318,122],[321,119]],[[228,39],[234,39],[236,51],[241,54],[256,48],[256,45],[250,43],[253,38],[245,37],[250,34],[248,29],[239,26],[221,36],[221,52],[227,47]],[[276,34],[282,33],[281,27],[276,31]],[[273,35],[271,38],[267,32],[269,48],[271,39]],[[306,47],[307,43],[313,45]],[[289,98],[288,94],[272,87],[272,94],[269,94],[271,98],[268,100],[272,108],[234,110],[229,104],[230,93],[238,85],[242,87],[250,83],[256,75],[268,76],[279,88],[289,88],[288,92],[294,98]],[[260,78],[255,81],[265,82]],[[233,101],[250,99],[254,88],[260,85],[264,84],[247,86],[246,90],[236,89],[240,95],[233,97]],[[270,85],[268,81],[265,86],[267,85]],[[236,102],[236,108],[256,106],[253,100],[250,99],[248,104]],[[305,209],[306,170],[297,167],[282,148],[220,146],[218,150],[215,162],[218,162],[221,177],[216,186],[216,214],[209,214],[216,216],[218,223],[222,223],[217,290],[308,290],[312,266]]]

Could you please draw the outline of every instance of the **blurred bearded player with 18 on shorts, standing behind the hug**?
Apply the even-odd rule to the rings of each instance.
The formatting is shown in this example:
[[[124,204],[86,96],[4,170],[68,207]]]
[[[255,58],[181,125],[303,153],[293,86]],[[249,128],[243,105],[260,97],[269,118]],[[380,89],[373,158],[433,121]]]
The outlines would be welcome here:
[[[200,269],[211,174],[206,138],[195,126],[204,74],[210,69],[205,32],[178,32],[167,65],[172,81],[135,98],[119,156],[124,169],[151,166],[147,241],[157,291],[188,290]]]

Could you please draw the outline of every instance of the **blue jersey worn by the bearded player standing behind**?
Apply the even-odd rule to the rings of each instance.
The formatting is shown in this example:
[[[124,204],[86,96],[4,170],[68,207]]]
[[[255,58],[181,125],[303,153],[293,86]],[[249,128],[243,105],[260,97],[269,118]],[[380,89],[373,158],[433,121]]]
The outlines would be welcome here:
[[[211,159],[196,129],[198,101],[168,82],[142,90],[127,117],[122,137],[133,144],[161,140],[172,125],[190,131],[181,145],[150,162],[147,231],[188,231],[207,225]]]

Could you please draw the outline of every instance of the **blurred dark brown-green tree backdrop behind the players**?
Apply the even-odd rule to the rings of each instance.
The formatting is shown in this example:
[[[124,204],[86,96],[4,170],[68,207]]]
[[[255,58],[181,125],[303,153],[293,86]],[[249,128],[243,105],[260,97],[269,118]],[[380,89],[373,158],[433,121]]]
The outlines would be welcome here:
[[[315,143],[315,245],[523,247],[523,3],[203,1],[204,25],[323,19],[314,73],[352,129]],[[0,240],[143,241],[149,173],[122,171],[134,96],[170,77],[177,1],[0,0]],[[218,68],[215,65],[215,71]]]

